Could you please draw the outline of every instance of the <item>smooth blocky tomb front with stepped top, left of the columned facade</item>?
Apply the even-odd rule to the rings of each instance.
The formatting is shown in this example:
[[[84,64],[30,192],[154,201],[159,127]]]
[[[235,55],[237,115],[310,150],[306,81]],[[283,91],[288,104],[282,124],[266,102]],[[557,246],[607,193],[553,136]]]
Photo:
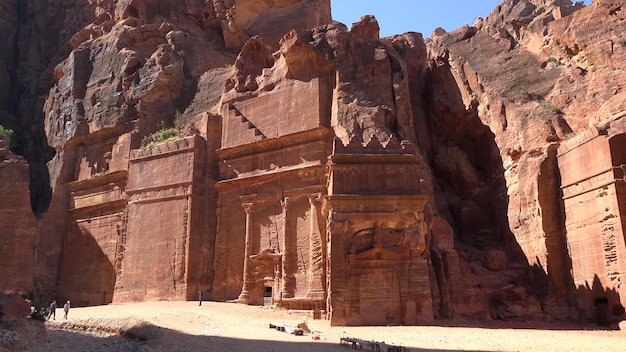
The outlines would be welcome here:
[[[135,150],[124,258],[114,301],[194,299],[208,286],[203,233],[205,143],[188,137]]]

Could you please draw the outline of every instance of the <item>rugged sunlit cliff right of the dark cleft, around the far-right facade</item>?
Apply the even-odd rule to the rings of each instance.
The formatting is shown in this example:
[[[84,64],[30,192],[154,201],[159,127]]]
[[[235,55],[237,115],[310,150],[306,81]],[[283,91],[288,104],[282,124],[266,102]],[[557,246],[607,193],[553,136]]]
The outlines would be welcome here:
[[[623,31],[623,15],[616,10],[619,8],[620,4],[612,1],[594,2],[585,8],[569,1],[505,1],[485,20],[477,22],[476,27],[435,36],[429,43],[429,50],[437,55],[434,61],[437,70],[443,68],[443,72],[453,76],[460,87],[460,92],[455,94],[456,100],[439,99],[444,106],[455,106],[450,102],[456,101],[456,106],[461,108],[457,110],[465,114],[461,116],[473,116],[473,121],[478,118],[481,125],[488,126],[494,135],[495,145],[483,150],[496,151],[491,153],[490,159],[500,159],[492,169],[496,171],[495,175],[492,174],[496,177],[496,184],[500,186],[491,188],[500,190],[491,204],[497,205],[495,209],[500,211],[507,209],[506,216],[496,213],[495,218],[504,225],[500,227],[499,235],[504,235],[508,247],[518,247],[518,250],[510,249],[518,254],[521,250],[521,258],[525,257],[530,264],[531,293],[538,297],[553,294],[548,297],[551,304],[542,306],[549,315],[567,316],[567,307],[578,305],[581,310],[569,314],[575,318],[580,314],[580,318],[593,320],[596,317],[590,318],[586,313],[595,304],[589,297],[602,296],[603,301],[607,296],[602,293],[606,289],[598,289],[601,285],[596,283],[593,288],[592,277],[577,279],[580,274],[576,270],[571,272],[572,266],[586,265],[584,263],[593,259],[583,259],[582,255],[572,257],[572,229],[566,224],[572,221],[572,215],[577,211],[567,200],[563,202],[561,187],[567,187],[567,184],[562,178],[569,171],[568,166],[564,166],[566,161],[561,161],[564,156],[558,156],[557,165],[557,155],[564,153],[561,141],[577,134],[587,134],[590,126],[592,131],[609,128],[617,135],[621,133],[620,124],[609,121],[619,120],[619,111],[624,110],[620,84],[614,81],[622,79],[623,60],[620,57],[623,53],[602,49],[606,42],[599,40],[601,26],[616,28],[615,32],[609,30],[601,35],[610,41],[616,41]],[[604,27],[607,23],[611,25]],[[541,45],[537,45],[538,38]],[[602,72],[598,67],[607,71]],[[596,93],[589,95],[591,91]],[[449,126],[458,128],[458,121],[457,118],[456,124]],[[475,133],[471,131],[475,129],[466,128],[460,134],[467,138]],[[458,130],[455,132],[459,134]],[[447,129],[444,135],[450,138],[455,134]],[[465,151],[467,147],[461,149]],[[620,164],[618,159],[607,163]],[[468,175],[463,177],[465,182],[475,184],[476,173],[467,169],[483,171],[486,168],[477,163],[463,163],[468,164],[473,167],[457,168],[454,172],[464,170],[462,173]],[[444,170],[444,174],[452,173]],[[484,174],[479,172],[478,175],[484,180]],[[467,190],[467,187],[463,189]],[[452,199],[455,198],[456,195]],[[619,202],[619,196],[612,201]],[[453,202],[448,201],[448,204],[456,208]],[[485,209],[484,206],[480,208]],[[457,218],[463,219],[462,216]],[[475,219],[476,216],[469,218]],[[508,223],[503,224],[502,220]],[[595,240],[601,242],[600,238]],[[599,249],[594,253],[604,255]],[[587,288],[581,288],[581,284],[574,287],[572,279],[586,282]],[[616,279],[608,280],[615,282]],[[604,287],[617,286],[605,284]],[[577,297],[577,303],[573,303],[574,297]],[[619,299],[615,295],[611,297],[607,299],[610,302],[607,305],[617,307],[616,312],[619,312],[623,301],[616,303]],[[610,319],[619,319],[619,314]]]

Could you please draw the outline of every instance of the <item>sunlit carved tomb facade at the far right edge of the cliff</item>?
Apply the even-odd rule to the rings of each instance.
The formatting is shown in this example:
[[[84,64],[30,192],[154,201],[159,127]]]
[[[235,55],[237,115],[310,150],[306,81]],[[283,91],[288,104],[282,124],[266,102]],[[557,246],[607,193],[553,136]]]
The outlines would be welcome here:
[[[621,213],[626,206],[625,147],[626,135],[607,136],[592,129],[559,150],[567,244],[579,314],[585,321],[614,322],[626,305]]]

